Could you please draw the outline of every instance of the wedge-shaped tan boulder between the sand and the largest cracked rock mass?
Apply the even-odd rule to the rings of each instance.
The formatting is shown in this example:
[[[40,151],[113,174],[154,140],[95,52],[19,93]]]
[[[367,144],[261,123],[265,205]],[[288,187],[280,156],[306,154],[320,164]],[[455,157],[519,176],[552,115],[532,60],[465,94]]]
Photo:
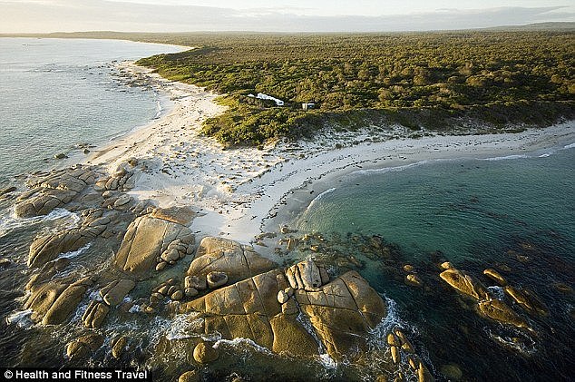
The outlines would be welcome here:
[[[233,283],[275,267],[276,263],[259,256],[250,246],[233,240],[207,237],[200,241],[196,258],[186,274],[205,277],[212,271],[224,272],[228,275],[228,282]]]

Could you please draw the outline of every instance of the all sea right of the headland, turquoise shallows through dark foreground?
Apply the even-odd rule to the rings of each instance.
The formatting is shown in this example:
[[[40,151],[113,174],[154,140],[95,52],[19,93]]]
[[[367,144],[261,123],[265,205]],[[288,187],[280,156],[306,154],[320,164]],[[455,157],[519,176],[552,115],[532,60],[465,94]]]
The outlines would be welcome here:
[[[471,380],[570,380],[575,329],[575,147],[492,160],[422,162],[357,171],[326,185],[288,225],[326,238],[317,253],[357,269],[397,305],[398,323],[426,354],[435,376],[455,363]],[[374,240],[387,251],[374,251]],[[354,263],[341,259],[353,258]],[[550,311],[528,319],[536,335],[480,318],[439,278],[449,260],[481,279],[498,269],[536,292]],[[343,265],[342,265],[343,264]],[[424,288],[404,284],[405,264]],[[502,289],[492,288],[495,295]]]

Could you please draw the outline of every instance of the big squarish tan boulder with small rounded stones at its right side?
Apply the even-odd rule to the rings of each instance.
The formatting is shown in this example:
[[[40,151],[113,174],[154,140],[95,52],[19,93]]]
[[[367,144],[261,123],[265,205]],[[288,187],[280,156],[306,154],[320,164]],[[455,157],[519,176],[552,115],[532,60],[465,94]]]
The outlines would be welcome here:
[[[150,276],[152,269],[156,269],[159,263],[157,259],[165,258],[166,250],[174,250],[169,247],[176,240],[178,248],[185,250],[178,252],[180,255],[191,252],[194,236],[189,228],[148,215],[137,218],[124,235],[115,266],[139,279],[145,279]]]

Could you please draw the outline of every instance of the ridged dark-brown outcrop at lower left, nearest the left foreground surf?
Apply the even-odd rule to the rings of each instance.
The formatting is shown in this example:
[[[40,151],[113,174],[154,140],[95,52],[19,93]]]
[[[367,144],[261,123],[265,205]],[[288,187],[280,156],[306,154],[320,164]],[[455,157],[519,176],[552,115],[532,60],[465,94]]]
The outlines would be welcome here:
[[[86,290],[93,287],[94,280],[71,278],[54,279],[31,289],[24,309],[32,309],[31,318],[44,325],[61,324],[78,307]]]

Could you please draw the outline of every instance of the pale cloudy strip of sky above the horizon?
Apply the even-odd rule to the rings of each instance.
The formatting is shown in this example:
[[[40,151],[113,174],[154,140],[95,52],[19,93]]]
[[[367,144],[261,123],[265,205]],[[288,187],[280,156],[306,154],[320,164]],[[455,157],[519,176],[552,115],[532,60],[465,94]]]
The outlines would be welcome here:
[[[387,32],[575,22],[575,0],[0,0],[0,33]]]

